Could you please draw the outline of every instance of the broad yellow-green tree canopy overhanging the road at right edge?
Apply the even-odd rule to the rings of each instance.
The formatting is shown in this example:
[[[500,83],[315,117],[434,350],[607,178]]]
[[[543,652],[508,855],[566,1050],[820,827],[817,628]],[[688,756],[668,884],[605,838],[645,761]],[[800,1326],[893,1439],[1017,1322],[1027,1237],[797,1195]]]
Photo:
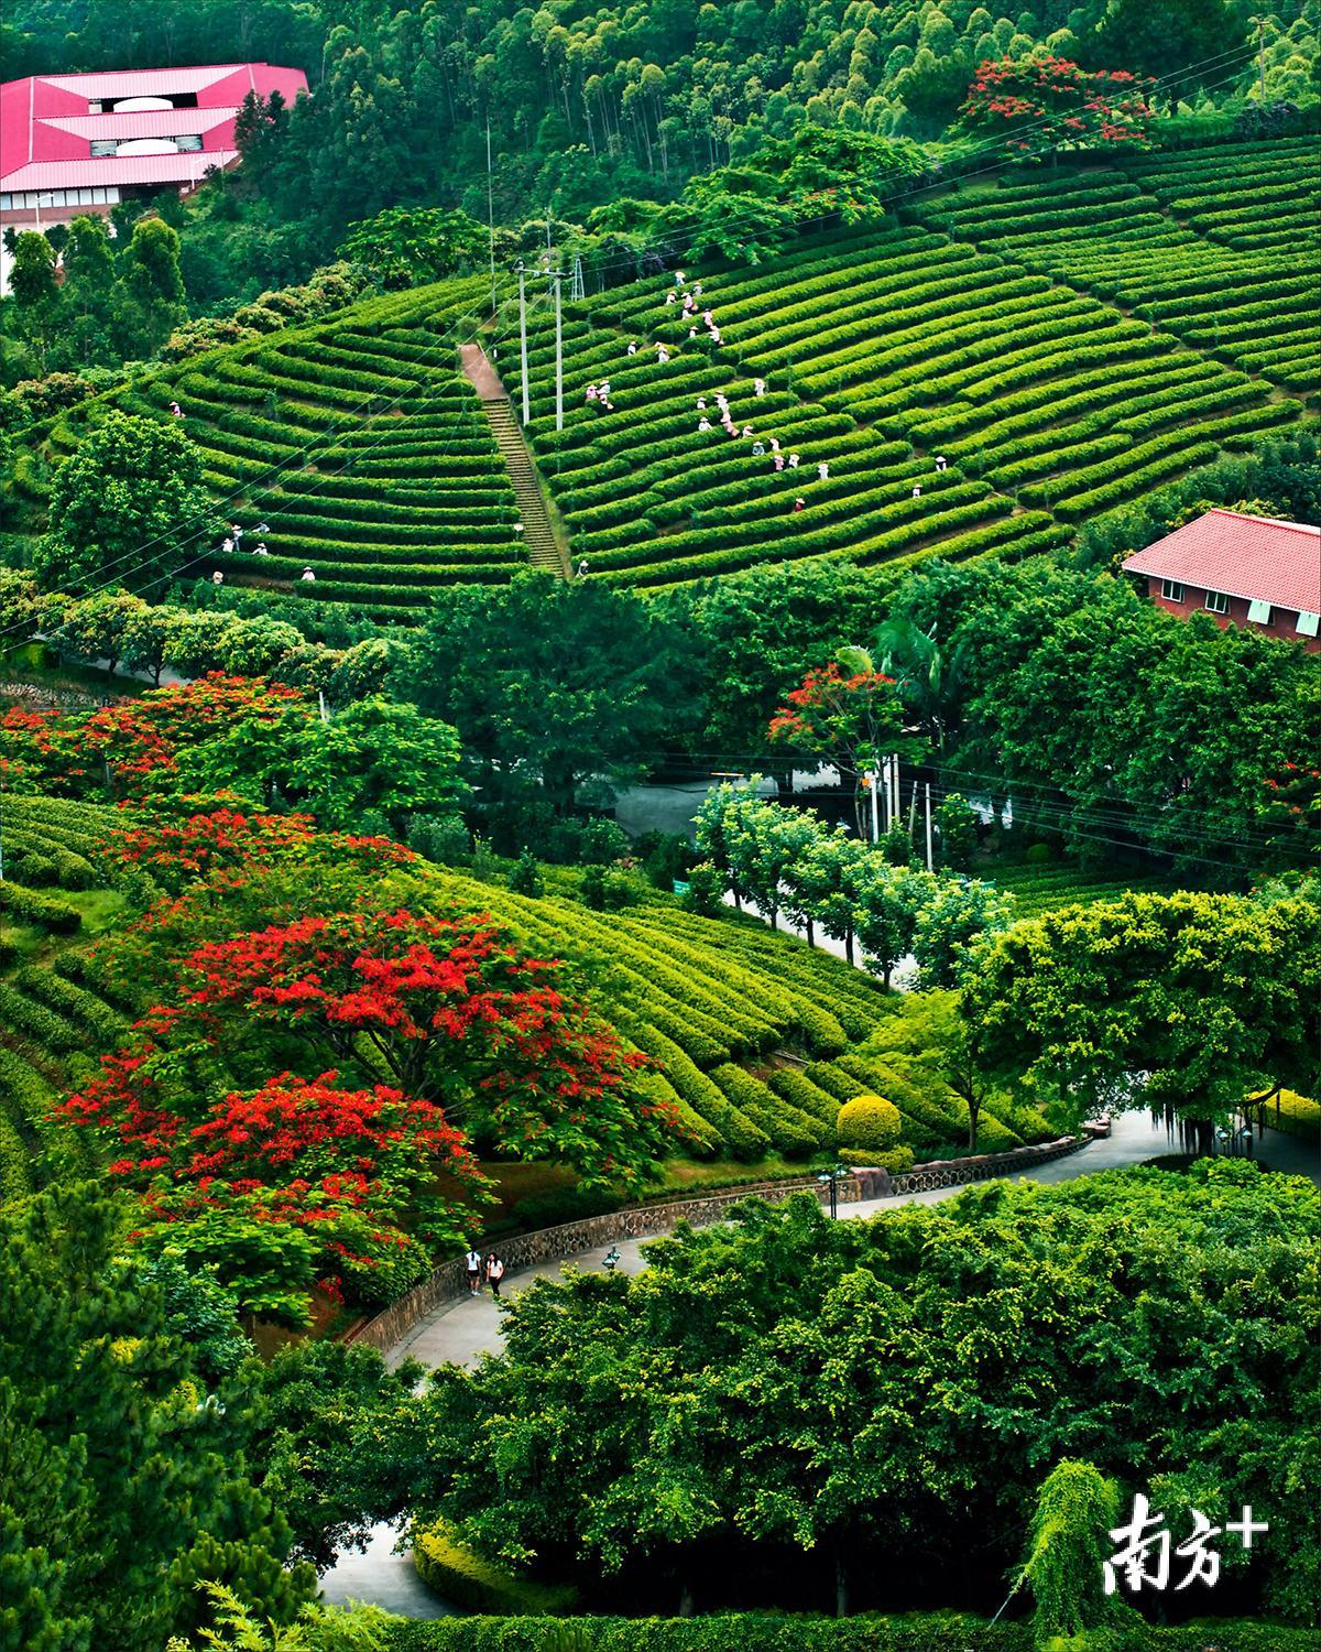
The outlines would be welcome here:
[[[1280,1085],[1311,1094],[1318,1003],[1311,887],[1063,907],[978,947],[963,991],[989,1062],[1049,1087],[1075,1117],[1118,1085],[1128,1105],[1202,1122]]]

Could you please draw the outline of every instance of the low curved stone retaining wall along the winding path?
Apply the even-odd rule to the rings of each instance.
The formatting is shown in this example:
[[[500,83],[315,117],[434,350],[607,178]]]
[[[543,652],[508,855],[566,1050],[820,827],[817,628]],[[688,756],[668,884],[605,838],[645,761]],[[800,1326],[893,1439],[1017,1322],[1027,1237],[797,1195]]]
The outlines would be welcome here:
[[[883,1199],[892,1193],[921,1193],[930,1188],[951,1188],[964,1181],[986,1181],[991,1176],[1014,1175],[1029,1165],[1062,1158],[1080,1146],[1083,1146],[1080,1138],[1067,1137],[1044,1146],[1012,1148],[1009,1153],[979,1153],[974,1158],[948,1158],[933,1165],[915,1165],[900,1176],[890,1176],[883,1170],[859,1168],[849,1176],[840,1176],[837,1198],[840,1204],[854,1204],[859,1199]],[[814,1176],[804,1176],[798,1181],[755,1181],[722,1193],[708,1193],[700,1199],[637,1204],[626,1211],[611,1211],[608,1216],[588,1216],[580,1222],[538,1227],[535,1232],[502,1241],[500,1256],[507,1274],[517,1274],[537,1262],[580,1256],[583,1251],[614,1244],[616,1239],[646,1239],[667,1234],[677,1222],[703,1227],[718,1222],[740,1199],[758,1198],[778,1203],[793,1193],[816,1193],[822,1204],[829,1203],[829,1189]],[[441,1262],[429,1279],[414,1285],[413,1290],[400,1297],[398,1302],[391,1302],[373,1318],[350,1330],[345,1340],[362,1341],[385,1353],[401,1341],[418,1320],[426,1318],[446,1302],[457,1302],[466,1292],[464,1259],[454,1257],[451,1262]]]

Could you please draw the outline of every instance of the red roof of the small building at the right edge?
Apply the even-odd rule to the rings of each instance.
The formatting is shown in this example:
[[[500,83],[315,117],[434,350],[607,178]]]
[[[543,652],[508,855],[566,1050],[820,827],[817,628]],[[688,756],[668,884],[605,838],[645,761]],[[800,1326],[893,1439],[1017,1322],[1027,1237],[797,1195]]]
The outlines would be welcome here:
[[[1321,527],[1306,522],[1207,510],[1123,567],[1271,608],[1321,613]]]

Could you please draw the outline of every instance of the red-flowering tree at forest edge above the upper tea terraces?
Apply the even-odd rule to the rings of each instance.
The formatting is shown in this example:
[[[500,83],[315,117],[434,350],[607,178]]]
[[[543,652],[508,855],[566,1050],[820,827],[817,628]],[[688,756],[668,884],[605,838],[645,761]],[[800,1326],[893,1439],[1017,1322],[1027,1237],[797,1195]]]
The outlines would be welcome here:
[[[1128,69],[1082,69],[1050,51],[986,59],[968,88],[959,124],[1019,155],[1146,149],[1151,84]]]

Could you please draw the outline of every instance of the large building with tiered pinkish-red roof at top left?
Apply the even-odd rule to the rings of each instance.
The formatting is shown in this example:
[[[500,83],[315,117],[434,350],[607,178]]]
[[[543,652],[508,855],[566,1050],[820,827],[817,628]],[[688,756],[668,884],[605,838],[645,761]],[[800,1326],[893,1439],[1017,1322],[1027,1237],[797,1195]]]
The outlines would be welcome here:
[[[305,91],[302,69],[269,63],[5,81],[0,225],[68,223],[130,195],[192,188],[238,160],[234,117],[248,93],[292,104]]]

